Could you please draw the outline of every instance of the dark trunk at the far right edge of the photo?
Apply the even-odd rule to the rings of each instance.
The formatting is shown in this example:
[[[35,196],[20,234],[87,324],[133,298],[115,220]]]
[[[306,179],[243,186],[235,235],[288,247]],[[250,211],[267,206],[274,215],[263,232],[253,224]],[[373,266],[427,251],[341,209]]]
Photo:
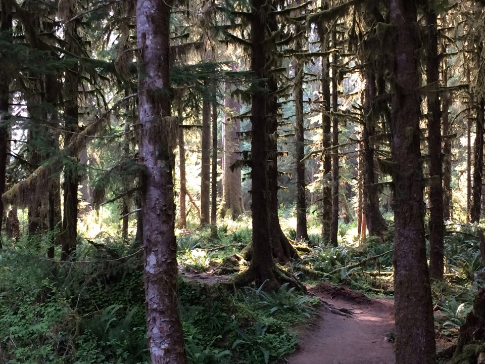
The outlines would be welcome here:
[[[475,158],[473,162],[472,205],[470,210],[471,223],[480,220],[481,211],[481,176],[483,173],[483,98],[480,98],[476,107],[475,150],[473,153]]]

